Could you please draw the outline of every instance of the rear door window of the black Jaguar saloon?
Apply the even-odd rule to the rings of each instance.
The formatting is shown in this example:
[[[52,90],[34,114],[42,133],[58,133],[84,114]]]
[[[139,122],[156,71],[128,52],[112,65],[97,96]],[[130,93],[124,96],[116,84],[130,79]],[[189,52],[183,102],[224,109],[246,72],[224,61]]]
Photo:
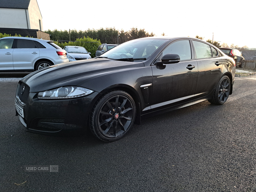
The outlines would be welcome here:
[[[197,58],[212,57],[211,47],[199,41],[193,41]]]

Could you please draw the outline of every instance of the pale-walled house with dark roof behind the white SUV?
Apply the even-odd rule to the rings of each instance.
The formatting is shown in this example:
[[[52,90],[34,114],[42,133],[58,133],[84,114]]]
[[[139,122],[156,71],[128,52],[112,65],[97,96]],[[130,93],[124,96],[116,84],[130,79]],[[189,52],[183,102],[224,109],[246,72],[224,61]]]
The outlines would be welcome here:
[[[0,0],[0,32],[49,39],[37,0]]]

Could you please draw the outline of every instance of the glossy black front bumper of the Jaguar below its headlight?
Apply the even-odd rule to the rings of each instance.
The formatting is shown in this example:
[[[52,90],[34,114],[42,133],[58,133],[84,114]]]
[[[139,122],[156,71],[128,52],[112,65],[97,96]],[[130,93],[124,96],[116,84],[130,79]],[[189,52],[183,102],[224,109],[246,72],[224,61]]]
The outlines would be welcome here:
[[[16,115],[26,131],[55,136],[81,134],[86,131],[97,92],[78,99],[58,100],[39,100],[37,94],[29,93],[26,104],[16,94],[15,102],[23,108],[24,118],[17,111]]]

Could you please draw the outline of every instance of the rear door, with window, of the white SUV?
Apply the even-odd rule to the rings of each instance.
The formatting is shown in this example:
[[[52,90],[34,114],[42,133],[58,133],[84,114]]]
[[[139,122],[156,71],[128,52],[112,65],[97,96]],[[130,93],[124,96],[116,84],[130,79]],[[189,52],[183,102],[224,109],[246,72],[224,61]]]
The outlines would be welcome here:
[[[15,70],[33,70],[33,63],[40,51],[36,41],[17,39],[13,50],[13,66]]]

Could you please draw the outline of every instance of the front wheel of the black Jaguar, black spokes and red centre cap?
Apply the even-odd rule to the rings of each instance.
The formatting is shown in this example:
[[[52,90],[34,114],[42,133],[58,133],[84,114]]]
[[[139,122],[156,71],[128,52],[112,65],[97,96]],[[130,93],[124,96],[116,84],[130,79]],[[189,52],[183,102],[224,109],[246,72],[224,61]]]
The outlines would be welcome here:
[[[90,130],[103,141],[124,137],[134,124],[136,106],[132,97],[122,90],[102,95],[90,113]]]

